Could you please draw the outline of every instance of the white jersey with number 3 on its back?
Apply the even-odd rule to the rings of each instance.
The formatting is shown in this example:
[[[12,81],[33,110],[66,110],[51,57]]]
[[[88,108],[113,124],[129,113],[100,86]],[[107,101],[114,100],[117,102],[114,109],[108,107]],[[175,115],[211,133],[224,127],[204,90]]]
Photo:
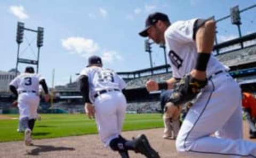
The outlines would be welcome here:
[[[16,87],[18,93],[21,91],[39,91],[39,82],[44,78],[39,74],[23,73],[15,77],[9,85]]]

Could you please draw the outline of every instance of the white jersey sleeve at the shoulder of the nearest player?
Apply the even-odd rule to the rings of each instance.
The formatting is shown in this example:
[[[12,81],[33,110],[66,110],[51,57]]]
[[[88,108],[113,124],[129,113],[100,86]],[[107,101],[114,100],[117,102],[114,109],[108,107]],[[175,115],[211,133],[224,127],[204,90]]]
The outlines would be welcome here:
[[[178,21],[173,23],[165,32],[165,38],[176,40],[182,43],[194,42],[194,24],[197,19]]]

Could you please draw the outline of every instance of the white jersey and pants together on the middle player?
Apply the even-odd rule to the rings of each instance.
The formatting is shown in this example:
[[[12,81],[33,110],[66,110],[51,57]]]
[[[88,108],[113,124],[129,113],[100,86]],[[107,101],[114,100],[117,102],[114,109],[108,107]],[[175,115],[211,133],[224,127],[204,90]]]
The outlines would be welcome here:
[[[88,76],[89,97],[94,104],[99,135],[105,146],[108,146],[112,139],[121,134],[123,127],[126,99],[121,90],[125,82],[111,69],[97,66],[86,67],[80,74]],[[107,91],[94,98],[101,90],[114,89],[120,91]]]

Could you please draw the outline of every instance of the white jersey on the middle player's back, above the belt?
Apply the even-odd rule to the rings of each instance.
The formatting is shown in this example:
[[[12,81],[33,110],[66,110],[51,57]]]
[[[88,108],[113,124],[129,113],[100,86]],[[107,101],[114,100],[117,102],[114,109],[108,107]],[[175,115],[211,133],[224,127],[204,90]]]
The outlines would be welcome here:
[[[82,70],[80,75],[88,76],[90,101],[93,102],[93,96],[101,90],[118,89],[123,90],[125,82],[113,70],[91,66]]]

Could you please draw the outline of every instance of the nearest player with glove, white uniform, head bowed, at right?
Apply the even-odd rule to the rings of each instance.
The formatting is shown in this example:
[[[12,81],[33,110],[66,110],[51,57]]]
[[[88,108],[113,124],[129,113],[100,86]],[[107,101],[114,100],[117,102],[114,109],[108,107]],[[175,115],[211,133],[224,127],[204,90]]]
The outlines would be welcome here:
[[[178,152],[202,157],[256,157],[256,144],[242,139],[241,89],[211,55],[215,22],[192,19],[171,24],[166,14],[157,12],[147,17],[146,29],[139,34],[165,43],[172,67],[170,80],[150,80],[147,90],[174,88],[177,93],[169,99],[174,105],[195,99],[177,137]],[[181,78],[178,88],[174,87],[175,78]]]

